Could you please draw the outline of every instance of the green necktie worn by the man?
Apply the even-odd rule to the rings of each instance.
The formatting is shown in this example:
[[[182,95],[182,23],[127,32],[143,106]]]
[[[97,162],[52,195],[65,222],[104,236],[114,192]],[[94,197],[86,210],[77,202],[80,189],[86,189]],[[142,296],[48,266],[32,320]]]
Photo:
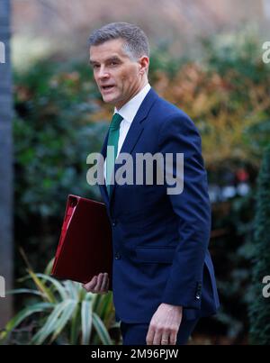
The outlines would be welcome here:
[[[107,143],[107,159],[106,159],[106,186],[108,190],[108,195],[110,196],[112,187],[110,182],[112,179],[112,170],[114,168],[114,162],[118,150],[118,140],[119,140],[119,129],[120,123],[123,118],[119,113],[114,113],[112,117],[112,123],[110,125],[109,137]],[[109,148],[110,146],[110,148]]]

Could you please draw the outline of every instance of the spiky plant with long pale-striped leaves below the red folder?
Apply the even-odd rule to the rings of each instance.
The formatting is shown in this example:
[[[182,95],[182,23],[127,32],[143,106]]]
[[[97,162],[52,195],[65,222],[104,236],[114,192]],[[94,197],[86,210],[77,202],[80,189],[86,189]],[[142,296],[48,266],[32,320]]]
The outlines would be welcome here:
[[[21,281],[31,279],[35,288],[10,292],[35,298],[6,324],[0,335],[2,344],[113,344],[108,332],[117,327],[112,293],[96,295],[87,293],[79,283],[59,282],[49,277],[50,268],[51,263],[44,274],[34,273],[28,268],[28,276]],[[15,331],[23,322],[31,326],[27,341],[22,341]]]

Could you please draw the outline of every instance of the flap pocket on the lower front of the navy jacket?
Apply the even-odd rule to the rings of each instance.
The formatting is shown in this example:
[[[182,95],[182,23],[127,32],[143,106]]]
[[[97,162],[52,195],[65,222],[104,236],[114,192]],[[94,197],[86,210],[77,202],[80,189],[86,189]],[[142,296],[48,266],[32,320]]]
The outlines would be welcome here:
[[[171,264],[175,257],[175,247],[137,247],[136,258],[139,262]]]

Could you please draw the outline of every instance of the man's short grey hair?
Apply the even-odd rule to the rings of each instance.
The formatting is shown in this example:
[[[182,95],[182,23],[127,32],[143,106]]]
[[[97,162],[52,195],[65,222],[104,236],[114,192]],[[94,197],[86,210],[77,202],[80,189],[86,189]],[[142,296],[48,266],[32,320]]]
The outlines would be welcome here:
[[[109,23],[100,29],[96,29],[89,37],[89,47],[100,45],[105,41],[122,39],[124,41],[123,49],[131,59],[139,59],[148,56],[149,43],[148,38],[139,26],[130,23]]]

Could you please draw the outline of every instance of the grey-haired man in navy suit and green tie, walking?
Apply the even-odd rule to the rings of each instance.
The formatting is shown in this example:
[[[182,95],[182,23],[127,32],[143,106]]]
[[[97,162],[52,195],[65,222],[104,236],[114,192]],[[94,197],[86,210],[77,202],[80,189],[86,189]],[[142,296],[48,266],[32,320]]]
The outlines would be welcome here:
[[[149,86],[148,39],[139,27],[110,23],[89,43],[94,79],[103,101],[114,106],[100,188],[112,222],[112,293],[123,344],[184,344],[200,317],[219,307],[201,138],[191,119]],[[175,157],[184,156],[183,190],[172,192],[166,177],[157,182],[157,163],[151,183],[144,177],[117,184],[122,155],[134,161],[135,175],[136,157],[157,153],[173,155],[176,179]],[[101,271],[85,289],[103,294],[108,286]]]

